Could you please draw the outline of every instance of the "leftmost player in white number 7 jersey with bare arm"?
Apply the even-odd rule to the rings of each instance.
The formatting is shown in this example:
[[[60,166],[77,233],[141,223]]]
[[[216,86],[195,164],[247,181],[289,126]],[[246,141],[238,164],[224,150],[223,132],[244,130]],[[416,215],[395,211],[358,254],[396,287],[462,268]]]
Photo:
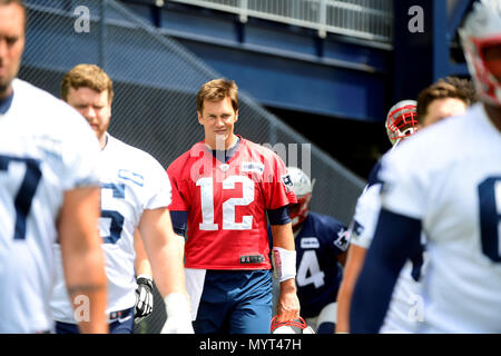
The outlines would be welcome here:
[[[89,301],[86,333],[105,333],[106,276],[96,222],[99,146],[78,112],[14,79],[24,8],[0,0],[0,333],[51,332],[52,244],[71,296]]]

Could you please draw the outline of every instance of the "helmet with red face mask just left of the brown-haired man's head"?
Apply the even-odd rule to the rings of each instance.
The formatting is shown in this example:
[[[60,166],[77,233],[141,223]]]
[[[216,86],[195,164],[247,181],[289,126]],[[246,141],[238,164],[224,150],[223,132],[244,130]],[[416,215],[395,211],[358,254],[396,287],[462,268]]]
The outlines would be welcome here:
[[[393,146],[418,131],[418,101],[402,100],[386,116],[386,134]]]

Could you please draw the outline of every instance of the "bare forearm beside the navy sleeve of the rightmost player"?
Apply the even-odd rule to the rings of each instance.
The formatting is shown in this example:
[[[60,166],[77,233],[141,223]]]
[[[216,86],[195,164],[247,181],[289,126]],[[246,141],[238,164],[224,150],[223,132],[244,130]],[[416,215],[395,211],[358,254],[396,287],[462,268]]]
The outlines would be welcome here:
[[[336,333],[350,333],[350,306],[356,279],[364,264],[367,250],[361,246],[350,245],[344,266],[343,280],[337,293]]]

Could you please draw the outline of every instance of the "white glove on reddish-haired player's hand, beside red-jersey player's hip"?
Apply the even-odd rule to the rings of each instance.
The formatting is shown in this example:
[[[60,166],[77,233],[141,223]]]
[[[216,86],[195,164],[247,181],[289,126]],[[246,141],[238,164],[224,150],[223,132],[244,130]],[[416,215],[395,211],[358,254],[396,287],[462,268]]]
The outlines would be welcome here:
[[[181,293],[171,293],[164,298],[164,301],[167,320],[160,334],[195,334],[186,296]]]

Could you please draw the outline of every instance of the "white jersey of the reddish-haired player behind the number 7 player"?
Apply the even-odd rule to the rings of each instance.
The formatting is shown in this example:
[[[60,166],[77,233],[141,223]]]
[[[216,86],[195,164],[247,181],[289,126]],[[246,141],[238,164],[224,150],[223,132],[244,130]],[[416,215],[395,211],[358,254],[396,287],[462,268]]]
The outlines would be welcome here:
[[[106,258],[108,303],[106,312],[124,310],[136,304],[134,233],[143,211],[168,207],[170,182],[165,169],[149,154],[107,135],[99,158],[101,218],[99,231]],[[55,245],[57,256],[59,246]],[[85,310],[73,310],[58,264],[58,283],[51,300],[56,320],[75,324]],[[81,304],[84,306],[84,304]],[[81,313],[80,313],[81,312]]]

